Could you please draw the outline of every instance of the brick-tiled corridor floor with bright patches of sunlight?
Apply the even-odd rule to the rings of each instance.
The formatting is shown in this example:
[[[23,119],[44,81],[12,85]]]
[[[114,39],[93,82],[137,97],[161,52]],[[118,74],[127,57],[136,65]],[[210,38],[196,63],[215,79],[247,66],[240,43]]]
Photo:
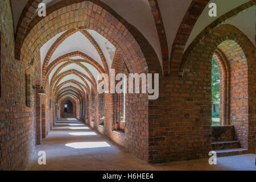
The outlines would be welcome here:
[[[46,152],[46,165],[39,165],[39,151]],[[36,146],[25,170],[255,170],[254,154],[208,158],[164,164],[147,164],[117,144],[76,120],[57,123],[41,145]]]

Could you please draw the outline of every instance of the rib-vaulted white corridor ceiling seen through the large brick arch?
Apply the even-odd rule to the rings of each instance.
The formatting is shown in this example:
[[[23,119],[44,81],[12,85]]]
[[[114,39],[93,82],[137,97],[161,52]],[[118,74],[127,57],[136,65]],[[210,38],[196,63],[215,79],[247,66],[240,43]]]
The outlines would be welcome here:
[[[42,70],[47,68],[49,88],[59,97],[67,93],[79,97],[77,92],[85,96],[92,87],[95,92],[98,76],[110,71],[114,54],[112,43],[85,29],[63,31],[40,48]],[[55,64],[60,58],[64,60]]]

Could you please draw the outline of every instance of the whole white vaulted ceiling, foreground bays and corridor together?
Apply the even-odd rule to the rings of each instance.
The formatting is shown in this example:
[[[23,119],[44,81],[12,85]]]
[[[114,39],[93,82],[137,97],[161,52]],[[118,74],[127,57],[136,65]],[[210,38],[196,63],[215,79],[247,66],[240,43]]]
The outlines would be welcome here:
[[[13,8],[14,27],[18,26],[20,16],[27,0],[10,0]],[[61,0],[43,0],[47,6],[54,5]],[[162,39],[166,37],[167,57],[170,59],[172,46],[184,15],[192,0],[158,0],[160,15],[156,15],[152,0],[101,0],[110,6],[117,14],[132,24],[148,40],[163,65]],[[205,1],[207,2],[207,1]],[[208,5],[217,5],[217,17],[209,17]],[[249,0],[210,0],[203,13],[197,19],[191,34],[185,43],[185,49],[193,42],[197,35],[210,23],[221,15],[236,7],[250,2]],[[36,15],[36,12],[35,12]],[[35,16],[34,15],[34,16]],[[159,18],[159,16],[162,16]],[[253,18],[254,17],[254,18]],[[163,22],[163,29],[158,27],[159,20]],[[255,6],[232,16],[226,22],[236,26],[254,43],[255,37]],[[164,35],[159,39],[159,35]],[[77,93],[90,92],[92,87],[97,89],[97,77],[101,72],[109,72],[116,48],[103,36],[94,30],[63,31],[48,40],[40,48],[42,70],[46,69],[48,84],[52,90],[79,97]],[[64,59],[59,64],[51,64],[58,59]],[[49,69],[48,69],[49,68]]]

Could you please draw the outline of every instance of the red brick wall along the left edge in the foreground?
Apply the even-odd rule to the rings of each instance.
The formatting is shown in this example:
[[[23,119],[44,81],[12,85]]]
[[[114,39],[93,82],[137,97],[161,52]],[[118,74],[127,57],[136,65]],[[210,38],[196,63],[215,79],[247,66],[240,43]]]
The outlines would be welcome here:
[[[5,20],[0,26],[0,170],[20,169],[34,151],[34,109],[26,106],[27,66],[14,59],[13,20],[7,0],[0,3],[0,18]]]

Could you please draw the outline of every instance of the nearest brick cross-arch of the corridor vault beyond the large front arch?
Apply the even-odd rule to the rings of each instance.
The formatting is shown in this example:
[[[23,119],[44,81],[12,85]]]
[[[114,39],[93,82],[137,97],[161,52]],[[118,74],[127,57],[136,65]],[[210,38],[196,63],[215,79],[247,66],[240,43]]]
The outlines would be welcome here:
[[[71,59],[69,59],[69,57],[73,57],[73,56],[81,56],[85,60],[81,60],[81,59],[71,60]],[[98,72],[105,73],[104,69],[101,67],[100,64],[97,63],[97,61],[93,60],[91,57],[89,57],[88,55],[86,55],[86,54],[84,54],[80,51],[75,51],[75,52],[67,53],[63,56],[60,56],[56,60],[52,61],[51,64],[49,64],[49,66],[47,67],[47,71],[43,73],[43,82],[44,82],[44,84],[46,84],[47,78],[49,76],[49,73],[52,72],[52,69],[54,67],[56,67],[58,64],[63,63],[64,61],[69,61],[70,63],[78,63],[78,62],[88,63],[88,64],[93,65],[93,67],[96,68],[98,70]]]

